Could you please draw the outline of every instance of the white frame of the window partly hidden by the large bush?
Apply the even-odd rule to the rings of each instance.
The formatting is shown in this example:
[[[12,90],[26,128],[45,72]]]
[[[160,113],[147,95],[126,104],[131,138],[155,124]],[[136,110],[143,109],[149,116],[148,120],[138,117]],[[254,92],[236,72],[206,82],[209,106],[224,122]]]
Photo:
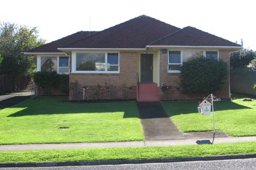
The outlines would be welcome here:
[[[169,51],[180,51],[180,58],[181,58],[181,63],[180,65],[182,66],[183,64],[183,52],[184,51],[195,51],[195,52],[203,52],[204,58],[206,58],[206,52],[217,52],[217,60],[220,60],[220,51],[218,49],[168,49],[168,63],[167,63],[167,72],[168,73],[180,73],[179,70],[169,70],[169,65],[179,65],[179,64],[169,64]]]

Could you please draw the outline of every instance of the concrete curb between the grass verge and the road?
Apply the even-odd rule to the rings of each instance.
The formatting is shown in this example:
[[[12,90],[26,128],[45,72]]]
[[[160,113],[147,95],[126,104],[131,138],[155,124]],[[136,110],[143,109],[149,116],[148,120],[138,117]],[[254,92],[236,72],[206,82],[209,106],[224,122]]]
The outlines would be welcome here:
[[[223,156],[199,156],[199,157],[162,158],[162,159],[78,161],[78,162],[0,163],[0,168],[7,168],[7,167],[51,167],[51,166],[120,165],[120,164],[136,164],[136,163],[166,163],[166,162],[186,162],[186,161],[212,161],[212,160],[248,159],[248,158],[256,158],[256,154],[223,155]]]

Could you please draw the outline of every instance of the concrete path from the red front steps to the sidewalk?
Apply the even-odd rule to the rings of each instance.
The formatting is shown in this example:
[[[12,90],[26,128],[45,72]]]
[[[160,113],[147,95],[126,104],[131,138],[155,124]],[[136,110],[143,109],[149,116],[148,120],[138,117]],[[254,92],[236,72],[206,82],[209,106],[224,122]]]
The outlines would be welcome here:
[[[145,140],[181,140],[183,135],[159,102],[138,102]]]

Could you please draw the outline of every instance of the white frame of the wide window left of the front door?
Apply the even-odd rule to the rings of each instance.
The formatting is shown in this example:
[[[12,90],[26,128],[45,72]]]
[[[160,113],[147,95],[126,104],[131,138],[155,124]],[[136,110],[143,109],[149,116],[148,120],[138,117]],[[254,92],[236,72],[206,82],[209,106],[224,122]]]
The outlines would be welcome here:
[[[76,54],[77,53],[105,53],[105,71],[77,71],[76,70]],[[107,54],[108,53],[117,53],[118,54],[118,65],[108,65],[107,63]],[[120,73],[120,52],[117,51],[109,51],[109,52],[102,52],[102,51],[77,51],[77,52],[72,52],[72,58],[74,56],[74,59],[72,60],[72,73]],[[74,61],[74,62],[73,62]],[[107,71],[107,66],[118,66],[118,71]]]

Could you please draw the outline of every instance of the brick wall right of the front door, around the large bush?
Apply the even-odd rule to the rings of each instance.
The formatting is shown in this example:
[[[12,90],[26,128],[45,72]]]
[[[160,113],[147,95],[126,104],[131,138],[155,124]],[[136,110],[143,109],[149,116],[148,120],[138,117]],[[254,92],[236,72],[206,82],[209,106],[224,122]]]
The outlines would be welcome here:
[[[183,99],[202,99],[201,95],[183,95],[180,91],[180,73],[167,73],[167,55],[160,53],[160,86],[162,83],[170,85],[171,88],[168,91],[162,91],[160,88],[161,100],[183,100]],[[229,70],[229,55],[230,51],[220,51],[220,59],[227,62]],[[229,75],[229,74],[228,74]],[[227,99],[229,96],[229,77],[225,81],[221,91],[216,92],[215,96]]]

